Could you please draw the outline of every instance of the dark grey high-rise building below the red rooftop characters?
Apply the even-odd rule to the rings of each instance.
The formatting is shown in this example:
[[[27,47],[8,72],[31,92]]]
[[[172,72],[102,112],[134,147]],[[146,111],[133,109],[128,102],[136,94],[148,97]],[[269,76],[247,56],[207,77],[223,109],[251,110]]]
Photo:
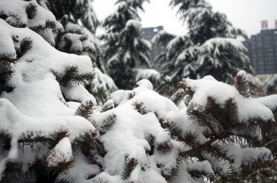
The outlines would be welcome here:
[[[262,29],[244,45],[256,74],[277,73],[277,28]]]

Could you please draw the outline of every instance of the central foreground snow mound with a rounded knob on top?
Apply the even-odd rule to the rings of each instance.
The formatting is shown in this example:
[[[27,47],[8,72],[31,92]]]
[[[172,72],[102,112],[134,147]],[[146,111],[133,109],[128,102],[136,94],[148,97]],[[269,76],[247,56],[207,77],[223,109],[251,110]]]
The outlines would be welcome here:
[[[148,80],[141,80],[138,85],[133,90],[117,90],[111,95],[109,103],[113,101],[118,106],[103,113],[94,112],[91,116],[91,119],[102,121],[106,115],[116,115],[116,123],[100,138],[107,154],[104,157],[105,171],[94,177],[95,181],[102,179],[121,182],[122,180],[115,180],[122,175],[125,155],[138,161],[138,165],[128,178],[129,181],[166,183],[158,173],[161,170],[157,168],[157,164],[163,165],[162,171],[165,174],[170,174],[167,171],[177,166],[176,159],[179,153],[177,149],[172,149],[166,154],[155,149],[152,156],[147,156],[145,150],[151,150],[147,142],[150,135],[155,137],[154,143],[167,141],[172,146],[178,146],[178,142],[173,142],[168,132],[161,128],[157,116],[159,118],[168,116],[169,111],[179,113],[179,109],[169,99],[150,90],[152,84]],[[128,97],[130,94],[132,97]],[[139,111],[136,104],[144,106],[145,113]],[[184,111],[180,112],[180,115],[184,114]],[[196,182],[190,177],[187,179],[188,182]]]

